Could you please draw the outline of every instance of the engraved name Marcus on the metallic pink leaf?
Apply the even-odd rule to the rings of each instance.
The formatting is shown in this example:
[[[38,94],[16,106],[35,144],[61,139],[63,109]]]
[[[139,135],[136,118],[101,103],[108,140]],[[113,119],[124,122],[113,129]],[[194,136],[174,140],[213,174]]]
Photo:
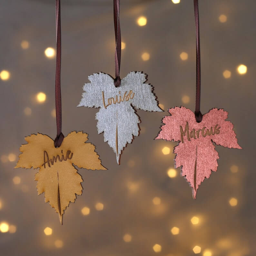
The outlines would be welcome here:
[[[191,132],[189,132],[189,125],[188,122],[186,123],[185,129],[182,129],[182,126],[180,125],[180,132],[181,132],[181,142],[184,143],[183,136],[187,135],[188,141],[190,141],[191,138],[197,139],[199,136],[206,137],[207,135],[214,135],[220,133],[220,126],[216,124],[213,128],[213,126],[209,129],[206,129],[206,127],[203,127],[202,129],[195,130],[193,129]]]

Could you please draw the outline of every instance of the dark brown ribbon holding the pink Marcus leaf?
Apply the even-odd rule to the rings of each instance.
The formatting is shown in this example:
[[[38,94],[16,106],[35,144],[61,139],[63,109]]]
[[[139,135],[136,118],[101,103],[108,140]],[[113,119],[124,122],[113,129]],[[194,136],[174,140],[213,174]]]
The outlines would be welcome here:
[[[198,0],[194,0],[194,13],[196,25],[196,105],[195,118],[198,123],[202,121],[202,113],[200,112],[200,95],[201,95],[201,63],[200,63],[200,35],[199,35],[199,14]]]

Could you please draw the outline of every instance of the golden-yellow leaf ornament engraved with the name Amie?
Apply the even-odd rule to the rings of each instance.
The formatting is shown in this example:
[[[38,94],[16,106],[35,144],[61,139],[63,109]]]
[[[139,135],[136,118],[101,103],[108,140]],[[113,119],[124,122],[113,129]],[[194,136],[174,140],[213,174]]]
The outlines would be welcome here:
[[[21,154],[15,168],[39,168],[35,175],[38,195],[44,192],[45,202],[59,214],[62,223],[64,210],[74,202],[76,194],[82,194],[82,177],[74,168],[106,170],[101,165],[95,146],[85,143],[88,134],[71,132],[60,147],[54,147],[54,141],[41,133],[25,137],[27,144],[20,147]],[[73,165],[74,164],[74,165]]]

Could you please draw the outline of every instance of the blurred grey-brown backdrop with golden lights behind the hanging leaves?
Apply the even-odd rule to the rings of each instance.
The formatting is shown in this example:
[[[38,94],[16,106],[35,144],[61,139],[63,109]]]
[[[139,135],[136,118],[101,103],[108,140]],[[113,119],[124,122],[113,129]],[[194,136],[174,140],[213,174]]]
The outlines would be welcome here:
[[[13,169],[24,136],[56,136],[54,0],[2,0],[0,9],[0,254],[8,256],[253,256],[255,244],[256,2],[199,1],[201,112],[224,108],[242,150],[216,146],[217,172],[196,201],[180,169],[176,143],[153,139],[168,108],[194,111],[195,25],[192,0],[121,0],[121,77],[144,71],[160,112],[138,110],[140,136],[121,165],[103,134],[98,109],[76,108],[88,75],[114,75],[112,0],[62,0],[63,133],[84,131],[106,171],[79,170],[84,182],[63,217],[36,170]]]

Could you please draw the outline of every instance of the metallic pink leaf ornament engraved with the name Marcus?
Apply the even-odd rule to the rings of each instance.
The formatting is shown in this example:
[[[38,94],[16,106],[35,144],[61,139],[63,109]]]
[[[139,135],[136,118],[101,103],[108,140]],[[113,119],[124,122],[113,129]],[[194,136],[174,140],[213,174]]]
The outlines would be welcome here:
[[[185,107],[171,108],[169,113],[171,116],[163,118],[164,125],[155,139],[179,142],[174,148],[175,168],[181,167],[181,174],[190,183],[195,199],[201,182],[210,177],[211,171],[217,171],[219,155],[212,142],[228,148],[241,147],[233,124],[225,121],[228,112],[223,109],[213,108],[203,115],[200,123],[196,122],[195,114]]]

